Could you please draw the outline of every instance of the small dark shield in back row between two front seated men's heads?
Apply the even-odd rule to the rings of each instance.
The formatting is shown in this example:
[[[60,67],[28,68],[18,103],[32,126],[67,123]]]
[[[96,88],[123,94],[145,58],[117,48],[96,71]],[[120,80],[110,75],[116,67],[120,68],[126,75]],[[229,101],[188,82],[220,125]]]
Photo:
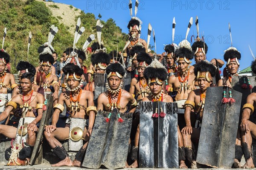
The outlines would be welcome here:
[[[107,82],[107,76],[106,74],[102,73],[95,73],[93,74],[93,81],[94,81],[94,103],[97,106],[97,100],[101,93],[105,92]]]

